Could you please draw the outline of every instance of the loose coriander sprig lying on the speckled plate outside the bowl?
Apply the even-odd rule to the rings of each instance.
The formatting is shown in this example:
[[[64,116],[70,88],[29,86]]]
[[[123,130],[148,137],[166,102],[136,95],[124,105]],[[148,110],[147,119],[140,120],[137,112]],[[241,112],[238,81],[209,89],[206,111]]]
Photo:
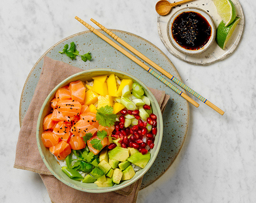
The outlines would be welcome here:
[[[79,51],[77,49],[75,49],[75,43],[74,42],[71,42],[70,43],[70,48],[69,49],[68,48],[69,48],[69,45],[65,44],[63,50],[59,51],[59,53],[61,53],[61,54],[65,53],[72,60],[76,59],[76,56],[81,56],[81,59],[84,62],[86,62],[87,60],[91,61],[91,54],[90,54],[90,52],[85,53],[83,55],[80,55]]]

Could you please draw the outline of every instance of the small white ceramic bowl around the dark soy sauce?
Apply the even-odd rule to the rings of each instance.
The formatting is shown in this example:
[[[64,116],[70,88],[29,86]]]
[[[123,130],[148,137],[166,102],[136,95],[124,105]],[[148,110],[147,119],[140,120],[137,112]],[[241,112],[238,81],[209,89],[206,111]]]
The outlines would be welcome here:
[[[180,14],[182,14],[183,12],[199,13],[209,22],[209,25],[211,26],[211,37],[210,37],[209,41],[202,48],[200,48],[198,50],[186,49],[186,48],[180,46],[173,38],[172,24],[173,24],[174,20],[176,19],[176,17],[179,16]],[[171,42],[172,46],[175,49],[177,49],[178,51],[180,51],[186,55],[200,54],[200,53],[204,52],[205,50],[207,50],[213,44],[213,42],[215,40],[215,35],[216,35],[216,28],[215,28],[215,25],[214,25],[214,22],[213,22],[213,19],[211,18],[211,16],[204,10],[196,8],[196,7],[186,7],[184,9],[177,11],[176,13],[174,13],[171,16],[171,18],[169,19],[168,24],[167,24],[167,36],[168,36],[169,41]]]

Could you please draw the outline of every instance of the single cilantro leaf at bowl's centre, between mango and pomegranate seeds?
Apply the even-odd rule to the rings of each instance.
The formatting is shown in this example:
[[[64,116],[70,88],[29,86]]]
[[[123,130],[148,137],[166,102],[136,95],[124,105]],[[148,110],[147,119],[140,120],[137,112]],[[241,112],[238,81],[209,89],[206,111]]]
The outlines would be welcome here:
[[[97,109],[96,120],[102,126],[112,126],[116,121],[117,115],[113,114],[113,107],[106,105]]]

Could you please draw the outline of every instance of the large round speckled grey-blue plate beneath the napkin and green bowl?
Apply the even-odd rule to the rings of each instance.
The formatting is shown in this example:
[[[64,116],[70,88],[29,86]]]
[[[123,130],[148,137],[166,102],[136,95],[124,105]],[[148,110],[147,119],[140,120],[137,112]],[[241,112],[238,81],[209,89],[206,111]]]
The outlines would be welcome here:
[[[102,30],[99,31],[105,34]],[[148,42],[144,38],[129,32],[120,30],[111,31],[116,33],[120,38],[123,38],[131,46],[136,47],[145,56],[153,59],[162,68],[166,69],[166,71],[170,72],[173,76],[182,81],[172,62],[155,45]],[[110,36],[106,36],[110,38]],[[76,48],[77,50],[81,51],[81,53],[90,51],[93,61],[83,62],[78,57],[76,60],[72,61],[67,56],[58,53],[58,51],[63,49],[65,44],[70,44],[72,41],[75,42],[75,44],[78,44]],[[186,139],[189,124],[188,102],[168,88],[165,84],[157,80],[153,75],[144,71],[144,69],[139,65],[131,61],[129,58],[124,56],[122,53],[90,31],[74,34],[58,42],[53,47],[48,49],[37,61],[37,63],[35,63],[24,84],[22,96],[20,98],[20,125],[22,124],[22,120],[26,114],[35,87],[39,80],[41,67],[43,65],[43,57],[45,55],[52,59],[63,61],[85,70],[104,67],[123,71],[143,81],[148,87],[164,90],[166,94],[169,94],[170,100],[168,101],[165,112],[163,113],[163,138],[161,148],[152,167],[144,175],[141,189],[152,184],[163,173],[165,173],[181,151],[183,143]]]

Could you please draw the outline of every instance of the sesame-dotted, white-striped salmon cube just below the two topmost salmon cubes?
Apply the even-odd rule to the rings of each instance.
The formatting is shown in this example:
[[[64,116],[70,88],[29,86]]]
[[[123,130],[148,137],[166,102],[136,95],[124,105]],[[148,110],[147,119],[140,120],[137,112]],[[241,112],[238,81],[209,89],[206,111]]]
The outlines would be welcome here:
[[[74,116],[79,115],[82,105],[77,100],[64,99],[57,103],[57,108],[63,115]]]

